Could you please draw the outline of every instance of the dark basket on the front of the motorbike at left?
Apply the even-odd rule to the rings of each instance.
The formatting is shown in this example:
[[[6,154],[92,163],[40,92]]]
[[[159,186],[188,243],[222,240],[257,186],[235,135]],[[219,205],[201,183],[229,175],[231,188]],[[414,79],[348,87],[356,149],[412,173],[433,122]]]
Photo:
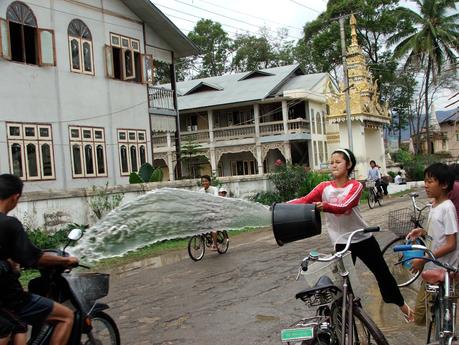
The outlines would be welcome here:
[[[69,284],[76,303],[88,313],[94,303],[108,295],[109,274],[106,273],[71,273],[62,274]]]

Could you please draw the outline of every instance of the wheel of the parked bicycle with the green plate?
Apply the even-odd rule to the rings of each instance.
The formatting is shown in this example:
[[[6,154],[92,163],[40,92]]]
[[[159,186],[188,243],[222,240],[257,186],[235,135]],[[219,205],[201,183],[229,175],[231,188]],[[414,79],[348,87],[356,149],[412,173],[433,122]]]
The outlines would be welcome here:
[[[342,307],[338,300],[331,309],[331,322],[336,336],[336,344],[341,344]],[[367,315],[361,306],[353,306],[353,344],[355,345],[389,345],[384,334],[376,326],[374,321]],[[346,333],[348,329],[346,327]]]

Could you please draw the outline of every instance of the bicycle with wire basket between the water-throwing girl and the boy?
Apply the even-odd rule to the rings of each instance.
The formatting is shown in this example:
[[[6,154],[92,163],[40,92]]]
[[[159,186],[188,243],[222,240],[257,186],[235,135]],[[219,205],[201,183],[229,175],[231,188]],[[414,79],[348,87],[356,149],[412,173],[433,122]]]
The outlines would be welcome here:
[[[404,260],[404,254],[394,252],[394,246],[406,244],[406,235],[414,228],[422,228],[425,220],[423,211],[430,207],[430,204],[419,207],[416,203],[418,193],[410,193],[412,208],[403,208],[389,212],[389,230],[397,237],[389,242],[382,250],[383,258],[394,276],[399,287],[408,286],[413,283],[421,274],[420,272],[412,273],[409,263],[401,265]],[[418,244],[425,245],[425,240],[418,239]]]

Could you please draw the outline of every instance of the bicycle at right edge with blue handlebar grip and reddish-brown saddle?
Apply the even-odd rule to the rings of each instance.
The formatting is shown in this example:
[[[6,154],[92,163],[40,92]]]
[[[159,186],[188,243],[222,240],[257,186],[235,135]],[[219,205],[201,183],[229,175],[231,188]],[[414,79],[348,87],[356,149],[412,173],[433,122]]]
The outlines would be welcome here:
[[[394,251],[422,250],[429,257],[414,256],[411,259],[423,259],[444,268],[426,270],[422,274],[426,282],[426,291],[432,293],[434,298],[431,300],[431,320],[427,332],[428,345],[458,345],[456,339],[456,309],[457,295],[455,291],[455,274],[459,273],[459,268],[443,263],[435,259],[432,251],[423,245],[399,245],[394,247]],[[406,260],[411,260],[406,259]],[[450,277],[452,273],[452,278]],[[431,339],[433,336],[434,339]],[[432,341],[431,341],[432,340]]]

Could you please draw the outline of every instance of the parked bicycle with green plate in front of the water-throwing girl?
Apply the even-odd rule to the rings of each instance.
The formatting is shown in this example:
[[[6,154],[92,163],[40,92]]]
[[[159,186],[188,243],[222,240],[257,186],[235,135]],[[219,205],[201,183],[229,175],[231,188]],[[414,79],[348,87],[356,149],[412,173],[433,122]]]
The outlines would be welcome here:
[[[353,236],[360,232],[375,231],[379,231],[379,227],[355,230],[350,233],[342,251],[325,257],[312,251],[302,260],[297,279],[300,275],[307,275],[308,270],[311,269],[315,269],[315,272],[320,274],[327,271],[330,276],[321,276],[314,286],[296,294],[295,297],[304,301],[308,307],[317,307],[317,309],[315,316],[301,319],[282,330],[283,343],[388,345],[384,334],[364,311],[360,299],[354,296],[351,286],[353,278],[349,274],[354,267],[348,252]],[[313,262],[311,267],[309,261]]]

